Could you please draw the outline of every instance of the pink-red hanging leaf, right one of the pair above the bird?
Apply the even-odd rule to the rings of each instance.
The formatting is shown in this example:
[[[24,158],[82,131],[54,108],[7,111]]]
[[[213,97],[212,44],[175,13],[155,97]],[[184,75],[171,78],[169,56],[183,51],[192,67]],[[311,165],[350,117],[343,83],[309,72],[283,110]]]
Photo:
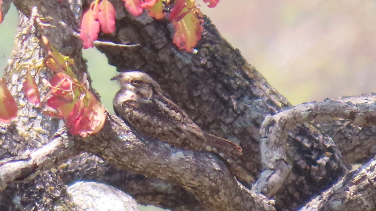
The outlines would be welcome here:
[[[111,2],[103,0],[99,3],[98,20],[100,29],[106,34],[115,32],[115,9]]]

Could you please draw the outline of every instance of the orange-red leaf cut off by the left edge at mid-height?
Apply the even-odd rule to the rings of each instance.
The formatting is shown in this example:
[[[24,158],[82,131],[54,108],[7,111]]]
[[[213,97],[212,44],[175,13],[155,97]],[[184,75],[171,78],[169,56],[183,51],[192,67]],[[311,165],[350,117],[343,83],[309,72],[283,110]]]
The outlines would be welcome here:
[[[17,116],[17,103],[0,78],[0,121],[9,123]]]

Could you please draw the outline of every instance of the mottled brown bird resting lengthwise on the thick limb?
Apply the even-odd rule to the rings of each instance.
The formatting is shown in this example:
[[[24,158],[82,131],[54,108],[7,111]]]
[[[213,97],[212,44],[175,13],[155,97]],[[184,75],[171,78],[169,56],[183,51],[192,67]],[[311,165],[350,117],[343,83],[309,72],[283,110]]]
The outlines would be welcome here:
[[[115,113],[139,133],[193,151],[241,154],[240,146],[197,126],[163,95],[159,84],[146,73],[123,72],[111,80],[117,80],[121,85],[113,101]]]

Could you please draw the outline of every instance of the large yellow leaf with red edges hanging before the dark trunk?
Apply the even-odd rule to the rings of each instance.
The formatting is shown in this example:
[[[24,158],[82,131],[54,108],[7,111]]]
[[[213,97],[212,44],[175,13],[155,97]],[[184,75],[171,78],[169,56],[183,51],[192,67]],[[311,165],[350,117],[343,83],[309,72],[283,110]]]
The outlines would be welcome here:
[[[187,10],[185,8],[185,10]],[[183,11],[185,12],[185,11]],[[179,49],[185,49],[188,52],[193,50],[197,42],[201,39],[203,27],[200,20],[192,10],[186,14],[181,20],[172,22],[175,26],[175,34],[173,42]]]

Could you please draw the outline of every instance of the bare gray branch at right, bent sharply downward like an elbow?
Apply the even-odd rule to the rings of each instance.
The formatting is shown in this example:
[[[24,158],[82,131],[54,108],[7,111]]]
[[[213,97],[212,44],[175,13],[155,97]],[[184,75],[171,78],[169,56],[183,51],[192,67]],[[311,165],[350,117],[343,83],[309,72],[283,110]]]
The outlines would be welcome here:
[[[305,123],[317,124],[348,119],[360,127],[376,124],[375,95],[346,97],[323,102],[297,105],[265,118],[261,125],[261,154],[266,170],[258,182],[259,191],[271,196],[282,186],[291,172],[293,162],[287,154],[287,138],[290,131]],[[267,181],[267,184],[262,184]]]

